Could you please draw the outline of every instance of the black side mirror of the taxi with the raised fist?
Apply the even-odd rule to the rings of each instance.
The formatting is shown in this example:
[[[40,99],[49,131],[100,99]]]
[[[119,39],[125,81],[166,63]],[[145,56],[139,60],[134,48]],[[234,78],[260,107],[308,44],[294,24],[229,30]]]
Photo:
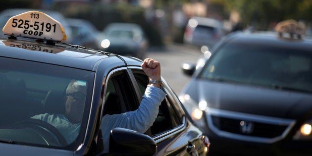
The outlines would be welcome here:
[[[154,156],[156,152],[156,143],[148,135],[125,128],[110,131],[109,154],[113,156]]]

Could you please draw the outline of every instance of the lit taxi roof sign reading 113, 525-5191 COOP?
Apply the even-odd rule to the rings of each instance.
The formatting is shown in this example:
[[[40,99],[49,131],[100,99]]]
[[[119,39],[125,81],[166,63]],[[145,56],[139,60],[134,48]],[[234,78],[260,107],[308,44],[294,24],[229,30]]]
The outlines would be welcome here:
[[[5,35],[47,41],[64,41],[63,25],[40,11],[28,11],[11,17],[2,29]]]

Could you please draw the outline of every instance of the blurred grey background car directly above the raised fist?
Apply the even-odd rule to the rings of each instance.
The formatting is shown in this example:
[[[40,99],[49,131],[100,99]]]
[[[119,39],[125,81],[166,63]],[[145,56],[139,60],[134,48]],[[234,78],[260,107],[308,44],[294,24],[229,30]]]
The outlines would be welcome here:
[[[149,42],[138,24],[110,23],[103,31],[99,45],[106,52],[144,59]]]

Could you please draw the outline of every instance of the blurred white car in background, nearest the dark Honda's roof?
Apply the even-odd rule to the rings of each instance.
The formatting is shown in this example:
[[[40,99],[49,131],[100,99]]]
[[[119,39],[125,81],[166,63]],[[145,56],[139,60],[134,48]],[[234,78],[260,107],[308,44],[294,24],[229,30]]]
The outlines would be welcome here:
[[[211,48],[223,35],[221,21],[206,17],[192,17],[185,28],[183,41],[189,45]]]

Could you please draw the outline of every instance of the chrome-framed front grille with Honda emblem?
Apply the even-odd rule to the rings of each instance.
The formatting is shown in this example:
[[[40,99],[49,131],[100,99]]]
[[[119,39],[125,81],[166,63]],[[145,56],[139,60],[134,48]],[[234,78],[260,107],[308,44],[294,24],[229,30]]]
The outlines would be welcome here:
[[[276,118],[209,108],[208,127],[220,137],[273,143],[286,137],[295,124],[293,119]]]

